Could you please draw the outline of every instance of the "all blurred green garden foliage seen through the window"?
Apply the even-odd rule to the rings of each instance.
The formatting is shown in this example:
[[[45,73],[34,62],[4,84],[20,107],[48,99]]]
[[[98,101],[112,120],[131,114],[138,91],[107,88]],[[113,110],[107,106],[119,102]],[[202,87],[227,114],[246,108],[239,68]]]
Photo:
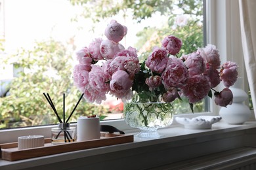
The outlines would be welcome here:
[[[134,47],[139,50],[141,61],[148,56],[153,46],[160,46],[161,40],[167,35],[175,35],[182,39],[180,55],[188,54],[203,46],[202,24],[198,25],[202,20],[203,11],[200,0],[70,0],[70,3],[84,7],[79,18],[91,18],[94,22],[100,22],[116,14],[122,14],[125,18],[128,13],[131,13],[138,23],[159,12],[163,16],[169,16],[166,25],[161,29],[145,27],[137,34],[140,39],[135,42]],[[173,29],[177,16],[173,14],[173,10],[177,7],[183,9],[184,14],[190,14],[192,19],[184,27],[177,26]],[[74,21],[79,20],[74,18]],[[145,48],[144,44],[148,41],[150,46]],[[9,87],[11,95],[0,97],[0,128],[56,124],[58,120],[43,92],[51,95],[61,118],[62,96],[66,93],[66,117],[68,117],[81,95],[72,80],[72,52],[74,47],[70,44],[61,44],[49,39],[49,41],[36,42],[33,49],[20,49],[16,54],[5,59],[7,63],[14,61],[13,64],[23,71],[12,80]],[[190,112],[187,102],[176,100],[174,107],[175,113]],[[202,110],[203,103],[194,105],[195,112]],[[70,122],[75,122],[78,116],[91,114],[97,114],[104,119],[107,112],[102,106],[95,106],[82,100]]]

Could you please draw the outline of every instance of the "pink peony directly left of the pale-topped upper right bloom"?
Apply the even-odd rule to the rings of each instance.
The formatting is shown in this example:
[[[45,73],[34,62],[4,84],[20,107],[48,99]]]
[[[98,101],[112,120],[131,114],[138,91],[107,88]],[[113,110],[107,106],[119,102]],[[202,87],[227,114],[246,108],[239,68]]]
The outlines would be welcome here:
[[[199,75],[205,71],[205,61],[203,57],[196,52],[189,54],[184,64],[188,67],[188,74],[190,76]]]

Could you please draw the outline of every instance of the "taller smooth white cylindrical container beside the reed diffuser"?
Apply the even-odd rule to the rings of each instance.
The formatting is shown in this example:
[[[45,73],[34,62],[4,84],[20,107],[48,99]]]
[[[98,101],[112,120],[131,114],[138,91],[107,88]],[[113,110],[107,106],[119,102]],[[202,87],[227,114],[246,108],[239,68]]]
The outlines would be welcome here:
[[[81,116],[77,120],[77,141],[100,139],[100,119]]]

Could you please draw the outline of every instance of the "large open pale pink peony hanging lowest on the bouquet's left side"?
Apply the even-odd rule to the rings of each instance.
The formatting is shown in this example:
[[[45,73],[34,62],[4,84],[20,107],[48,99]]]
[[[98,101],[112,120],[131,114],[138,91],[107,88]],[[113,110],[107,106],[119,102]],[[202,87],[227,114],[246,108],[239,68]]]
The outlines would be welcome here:
[[[85,99],[93,103],[101,103],[106,99],[106,93],[109,92],[110,86],[107,76],[104,74],[102,67],[98,65],[92,65],[91,72],[89,73],[89,84],[86,86],[84,93]]]

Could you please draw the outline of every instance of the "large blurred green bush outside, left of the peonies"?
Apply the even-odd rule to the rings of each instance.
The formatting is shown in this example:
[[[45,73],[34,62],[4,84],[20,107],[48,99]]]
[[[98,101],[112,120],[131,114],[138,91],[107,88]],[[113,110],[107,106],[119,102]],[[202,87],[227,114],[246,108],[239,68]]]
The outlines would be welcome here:
[[[79,100],[81,93],[72,79],[72,50],[53,39],[37,42],[32,50],[21,49],[5,62],[15,61],[22,68],[10,85],[10,94],[0,98],[0,127],[37,126],[56,124],[56,118],[43,93],[49,93],[60,118],[63,118],[63,93],[66,118]],[[69,122],[79,116],[97,114],[104,118],[106,109],[81,100]]]

